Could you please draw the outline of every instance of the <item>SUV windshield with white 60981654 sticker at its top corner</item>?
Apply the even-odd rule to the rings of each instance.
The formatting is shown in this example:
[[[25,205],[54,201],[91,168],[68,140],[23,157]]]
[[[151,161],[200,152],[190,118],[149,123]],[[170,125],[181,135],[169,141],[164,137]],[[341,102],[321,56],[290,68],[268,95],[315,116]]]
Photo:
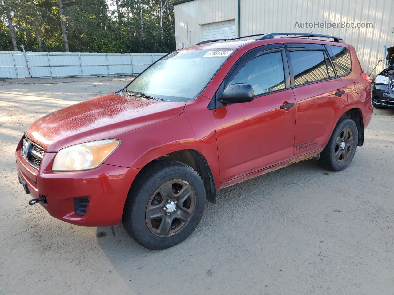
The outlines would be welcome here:
[[[182,50],[163,57],[136,77],[126,93],[162,101],[190,101],[206,87],[232,50]]]

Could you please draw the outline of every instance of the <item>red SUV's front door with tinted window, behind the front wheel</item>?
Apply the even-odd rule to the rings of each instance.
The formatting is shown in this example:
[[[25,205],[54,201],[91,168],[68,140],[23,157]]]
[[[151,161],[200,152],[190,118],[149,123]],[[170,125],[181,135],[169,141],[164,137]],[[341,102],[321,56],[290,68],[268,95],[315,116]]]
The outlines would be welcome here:
[[[293,155],[296,100],[289,88],[284,49],[264,50],[263,47],[237,65],[224,81],[223,89],[234,83],[247,83],[252,85],[255,99],[216,110],[222,183],[290,159]],[[220,91],[217,92],[219,97]]]

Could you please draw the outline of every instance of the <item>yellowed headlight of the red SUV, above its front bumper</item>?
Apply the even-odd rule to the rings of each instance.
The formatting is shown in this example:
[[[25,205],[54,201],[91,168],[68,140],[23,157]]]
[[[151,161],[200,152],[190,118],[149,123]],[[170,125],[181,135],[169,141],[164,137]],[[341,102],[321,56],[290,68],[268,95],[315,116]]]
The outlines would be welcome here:
[[[81,171],[97,168],[120,143],[119,140],[104,139],[65,147],[56,154],[52,171]]]

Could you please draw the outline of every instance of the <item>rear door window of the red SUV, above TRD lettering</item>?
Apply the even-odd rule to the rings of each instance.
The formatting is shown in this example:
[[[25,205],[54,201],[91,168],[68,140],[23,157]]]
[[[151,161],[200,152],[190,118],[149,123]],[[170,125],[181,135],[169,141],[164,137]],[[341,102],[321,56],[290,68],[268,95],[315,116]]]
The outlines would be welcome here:
[[[323,51],[291,51],[289,55],[295,85],[327,79]]]

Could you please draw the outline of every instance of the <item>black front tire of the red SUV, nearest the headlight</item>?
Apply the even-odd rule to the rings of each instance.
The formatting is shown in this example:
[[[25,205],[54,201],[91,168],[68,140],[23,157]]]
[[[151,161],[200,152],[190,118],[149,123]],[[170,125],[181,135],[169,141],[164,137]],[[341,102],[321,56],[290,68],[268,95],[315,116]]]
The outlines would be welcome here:
[[[168,208],[161,207],[167,206],[167,203],[165,202],[171,197],[171,193],[167,194],[169,197],[161,197],[162,194],[165,195],[167,192],[169,192],[167,184],[169,185],[170,190],[175,190],[174,186],[179,185],[172,184],[172,182],[175,180],[177,180],[178,183],[179,181],[183,181],[185,186],[187,183],[187,187],[191,192],[193,192],[193,194],[190,193],[190,197],[188,197],[190,207],[189,209],[191,210],[192,208],[193,213],[188,212],[189,217],[187,221],[181,221],[181,219],[177,219],[177,214],[182,215],[182,209],[185,209],[183,207],[184,201],[180,201],[182,204],[179,202],[176,205],[178,211],[172,211],[170,213],[170,217],[167,217],[166,215],[168,213],[162,210],[167,210]],[[164,188],[164,190],[162,190],[162,188]],[[182,188],[180,188],[180,190],[182,190]],[[177,193],[180,194],[180,192]],[[174,193],[171,198],[175,200],[176,196],[177,194]],[[191,200],[191,196],[193,196],[193,200]],[[164,203],[160,203],[160,198],[162,201],[164,201]],[[153,204],[153,202],[156,203]],[[191,202],[193,202],[193,205],[190,205]],[[159,204],[160,208],[158,208]],[[193,232],[200,222],[201,217],[203,216],[204,205],[204,183],[200,175],[193,168],[173,160],[158,161],[143,168],[143,171],[141,171],[141,173],[137,176],[137,179],[134,181],[126,199],[122,223],[126,232],[137,243],[148,249],[162,250],[182,242],[191,234],[191,232]],[[150,212],[149,210],[155,206],[157,209],[154,210],[160,210],[162,215],[158,217],[158,219],[152,218],[151,220],[148,220],[148,215]],[[186,208],[186,210],[189,209]],[[174,210],[173,207],[171,207],[171,210]],[[162,225],[166,218],[172,218],[171,221],[168,222],[168,224],[170,224],[170,232],[168,235],[164,234],[164,236],[159,236],[161,232],[159,233],[158,230],[160,230],[162,227],[160,226],[158,229],[156,229],[154,226],[157,226],[157,223],[159,222],[159,225]],[[171,231],[175,231],[175,229],[177,229],[175,225],[178,221],[178,226],[184,223],[182,228],[178,229],[178,232],[171,234]],[[173,229],[173,226],[175,226],[175,229]]]

